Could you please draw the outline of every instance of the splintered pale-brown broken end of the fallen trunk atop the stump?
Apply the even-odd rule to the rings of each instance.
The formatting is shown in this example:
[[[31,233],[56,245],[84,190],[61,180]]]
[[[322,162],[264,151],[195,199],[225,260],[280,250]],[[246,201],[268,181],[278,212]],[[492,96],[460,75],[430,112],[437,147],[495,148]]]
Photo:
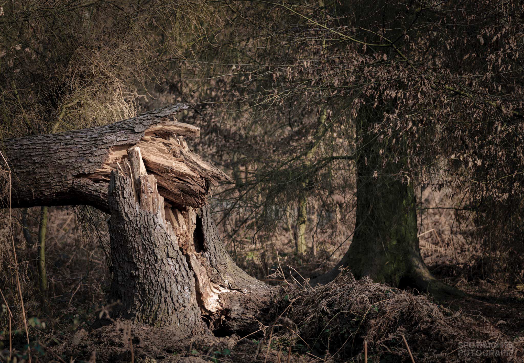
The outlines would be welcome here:
[[[89,175],[93,181],[109,180],[111,170],[130,163],[140,175],[153,175],[158,192],[171,205],[200,207],[213,185],[227,179],[212,164],[203,161],[188,148],[183,136],[198,137],[198,127],[164,121],[151,125],[137,144],[111,149],[101,169]],[[139,150],[138,156],[133,153]],[[127,161],[127,159],[129,161]],[[140,164],[134,165],[140,160]],[[135,171],[138,172],[138,171]],[[139,188],[138,175],[132,175],[134,191]]]

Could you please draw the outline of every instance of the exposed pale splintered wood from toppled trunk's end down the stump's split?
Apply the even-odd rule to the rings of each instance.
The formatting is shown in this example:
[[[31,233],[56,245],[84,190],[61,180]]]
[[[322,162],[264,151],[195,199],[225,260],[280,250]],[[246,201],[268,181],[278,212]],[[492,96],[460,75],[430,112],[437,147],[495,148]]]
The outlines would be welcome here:
[[[188,124],[152,125],[135,145],[111,150],[91,179],[109,179],[115,168],[128,175],[140,208],[154,213],[177,241],[194,273],[202,313],[209,314],[222,310],[219,295],[230,290],[210,281],[202,251],[194,241],[194,208],[205,205],[212,186],[227,177],[189,150],[183,136],[199,135],[200,129]]]

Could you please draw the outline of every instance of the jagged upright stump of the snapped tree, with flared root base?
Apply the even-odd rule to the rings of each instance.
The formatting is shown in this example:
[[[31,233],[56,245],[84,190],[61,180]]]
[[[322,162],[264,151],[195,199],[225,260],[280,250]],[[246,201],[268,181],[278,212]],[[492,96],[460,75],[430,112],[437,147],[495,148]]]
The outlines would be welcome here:
[[[271,289],[228,256],[209,207],[172,207],[147,175],[138,147],[109,187],[112,317],[176,327],[189,336],[211,329],[252,331],[253,314],[268,306]],[[258,315],[258,314],[257,314]],[[207,326],[205,323],[207,323]]]

